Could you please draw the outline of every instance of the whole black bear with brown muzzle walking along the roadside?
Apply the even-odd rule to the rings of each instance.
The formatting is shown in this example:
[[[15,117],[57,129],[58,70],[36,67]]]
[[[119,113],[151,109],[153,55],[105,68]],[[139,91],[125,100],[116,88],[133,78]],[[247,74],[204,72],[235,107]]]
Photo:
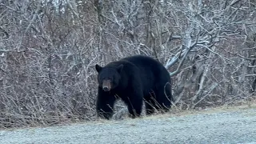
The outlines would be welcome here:
[[[132,118],[142,113],[143,99],[146,114],[156,110],[169,110],[173,101],[170,74],[154,58],[134,55],[110,62],[106,66],[95,66],[98,71],[98,116],[110,119],[114,102],[121,98],[126,103]]]

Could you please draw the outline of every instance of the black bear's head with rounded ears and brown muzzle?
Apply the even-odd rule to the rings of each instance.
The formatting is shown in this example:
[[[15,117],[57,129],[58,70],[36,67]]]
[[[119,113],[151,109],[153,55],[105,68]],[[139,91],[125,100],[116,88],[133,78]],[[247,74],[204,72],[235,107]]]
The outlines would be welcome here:
[[[113,90],[121,80],[123,65],[119,66],[95,66],[98,71],[98,86],[104,91]]]

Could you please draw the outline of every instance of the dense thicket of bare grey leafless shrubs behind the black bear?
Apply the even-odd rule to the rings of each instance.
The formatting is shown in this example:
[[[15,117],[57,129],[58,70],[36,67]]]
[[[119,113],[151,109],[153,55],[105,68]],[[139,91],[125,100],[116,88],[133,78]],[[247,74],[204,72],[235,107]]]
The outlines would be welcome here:
[[[95,119],[94,65],[133,54],[166,66],[180,109],[255,98],[253,1],[3,0],[0,15],[2,128]]]

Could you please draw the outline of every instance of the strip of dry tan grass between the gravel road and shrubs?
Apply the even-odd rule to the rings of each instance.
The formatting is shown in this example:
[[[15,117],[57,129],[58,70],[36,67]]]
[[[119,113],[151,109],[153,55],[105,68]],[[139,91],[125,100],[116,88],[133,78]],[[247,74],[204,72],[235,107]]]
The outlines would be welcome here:
[[[214,113],[221,113],[221,112],[232,112],[232,111],[239,111],[239,110],[246,110],[250,108],[256,108],[256,101],[250,101],[250,102],[239,102],[237,105],[224,105],[224,106],[215,106],[215,107],[208,107],[206,109],[202,110],[180,110],[180,109],[175,109],[172,108],[170,112],[166,114],[158,114],[155,113],[150,116],[142,116],[141,118],[129,118],[128,115],[124,115],[122,117],[122,120],[106,120],[106,119],[101,119],[101,118],[93,118],[91,120],[87,121],[77,121],[77,122],[72,122],[72,121],[63,121],[59,122],[56,125],[51,125],[51,126],[70,126],[74,124],[97,124],[97,125],[106,125],[106,124],[113,124],[113,123],[119,123],[119,122],[131,122],[131,125],[133,125],[133,122],[140,121],[143,119],[159,119],[159,118],[172,118],[172,117],[181,117],[181,116],[189,116],[189,115],[195,115],[195,114],[214,114]],[[14,127],[14,128],[9,128],[9,129],[0,129],[0,130],[18,130],[18,129],[23,129],[23,128],[38,128],[38,127],[46,127],[45,125],[42,126],[22,126],[22,127]]]

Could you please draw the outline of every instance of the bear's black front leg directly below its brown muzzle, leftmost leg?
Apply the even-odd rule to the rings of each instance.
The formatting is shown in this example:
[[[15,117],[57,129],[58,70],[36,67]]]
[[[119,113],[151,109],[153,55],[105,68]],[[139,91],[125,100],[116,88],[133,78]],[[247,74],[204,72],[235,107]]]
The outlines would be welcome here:
[[[110,91],[105,92],[101,88],[98,88],[98,98],[96,102],[98,117],[106,119],[112,118],[115,100],[114,94],[110,94]]]

